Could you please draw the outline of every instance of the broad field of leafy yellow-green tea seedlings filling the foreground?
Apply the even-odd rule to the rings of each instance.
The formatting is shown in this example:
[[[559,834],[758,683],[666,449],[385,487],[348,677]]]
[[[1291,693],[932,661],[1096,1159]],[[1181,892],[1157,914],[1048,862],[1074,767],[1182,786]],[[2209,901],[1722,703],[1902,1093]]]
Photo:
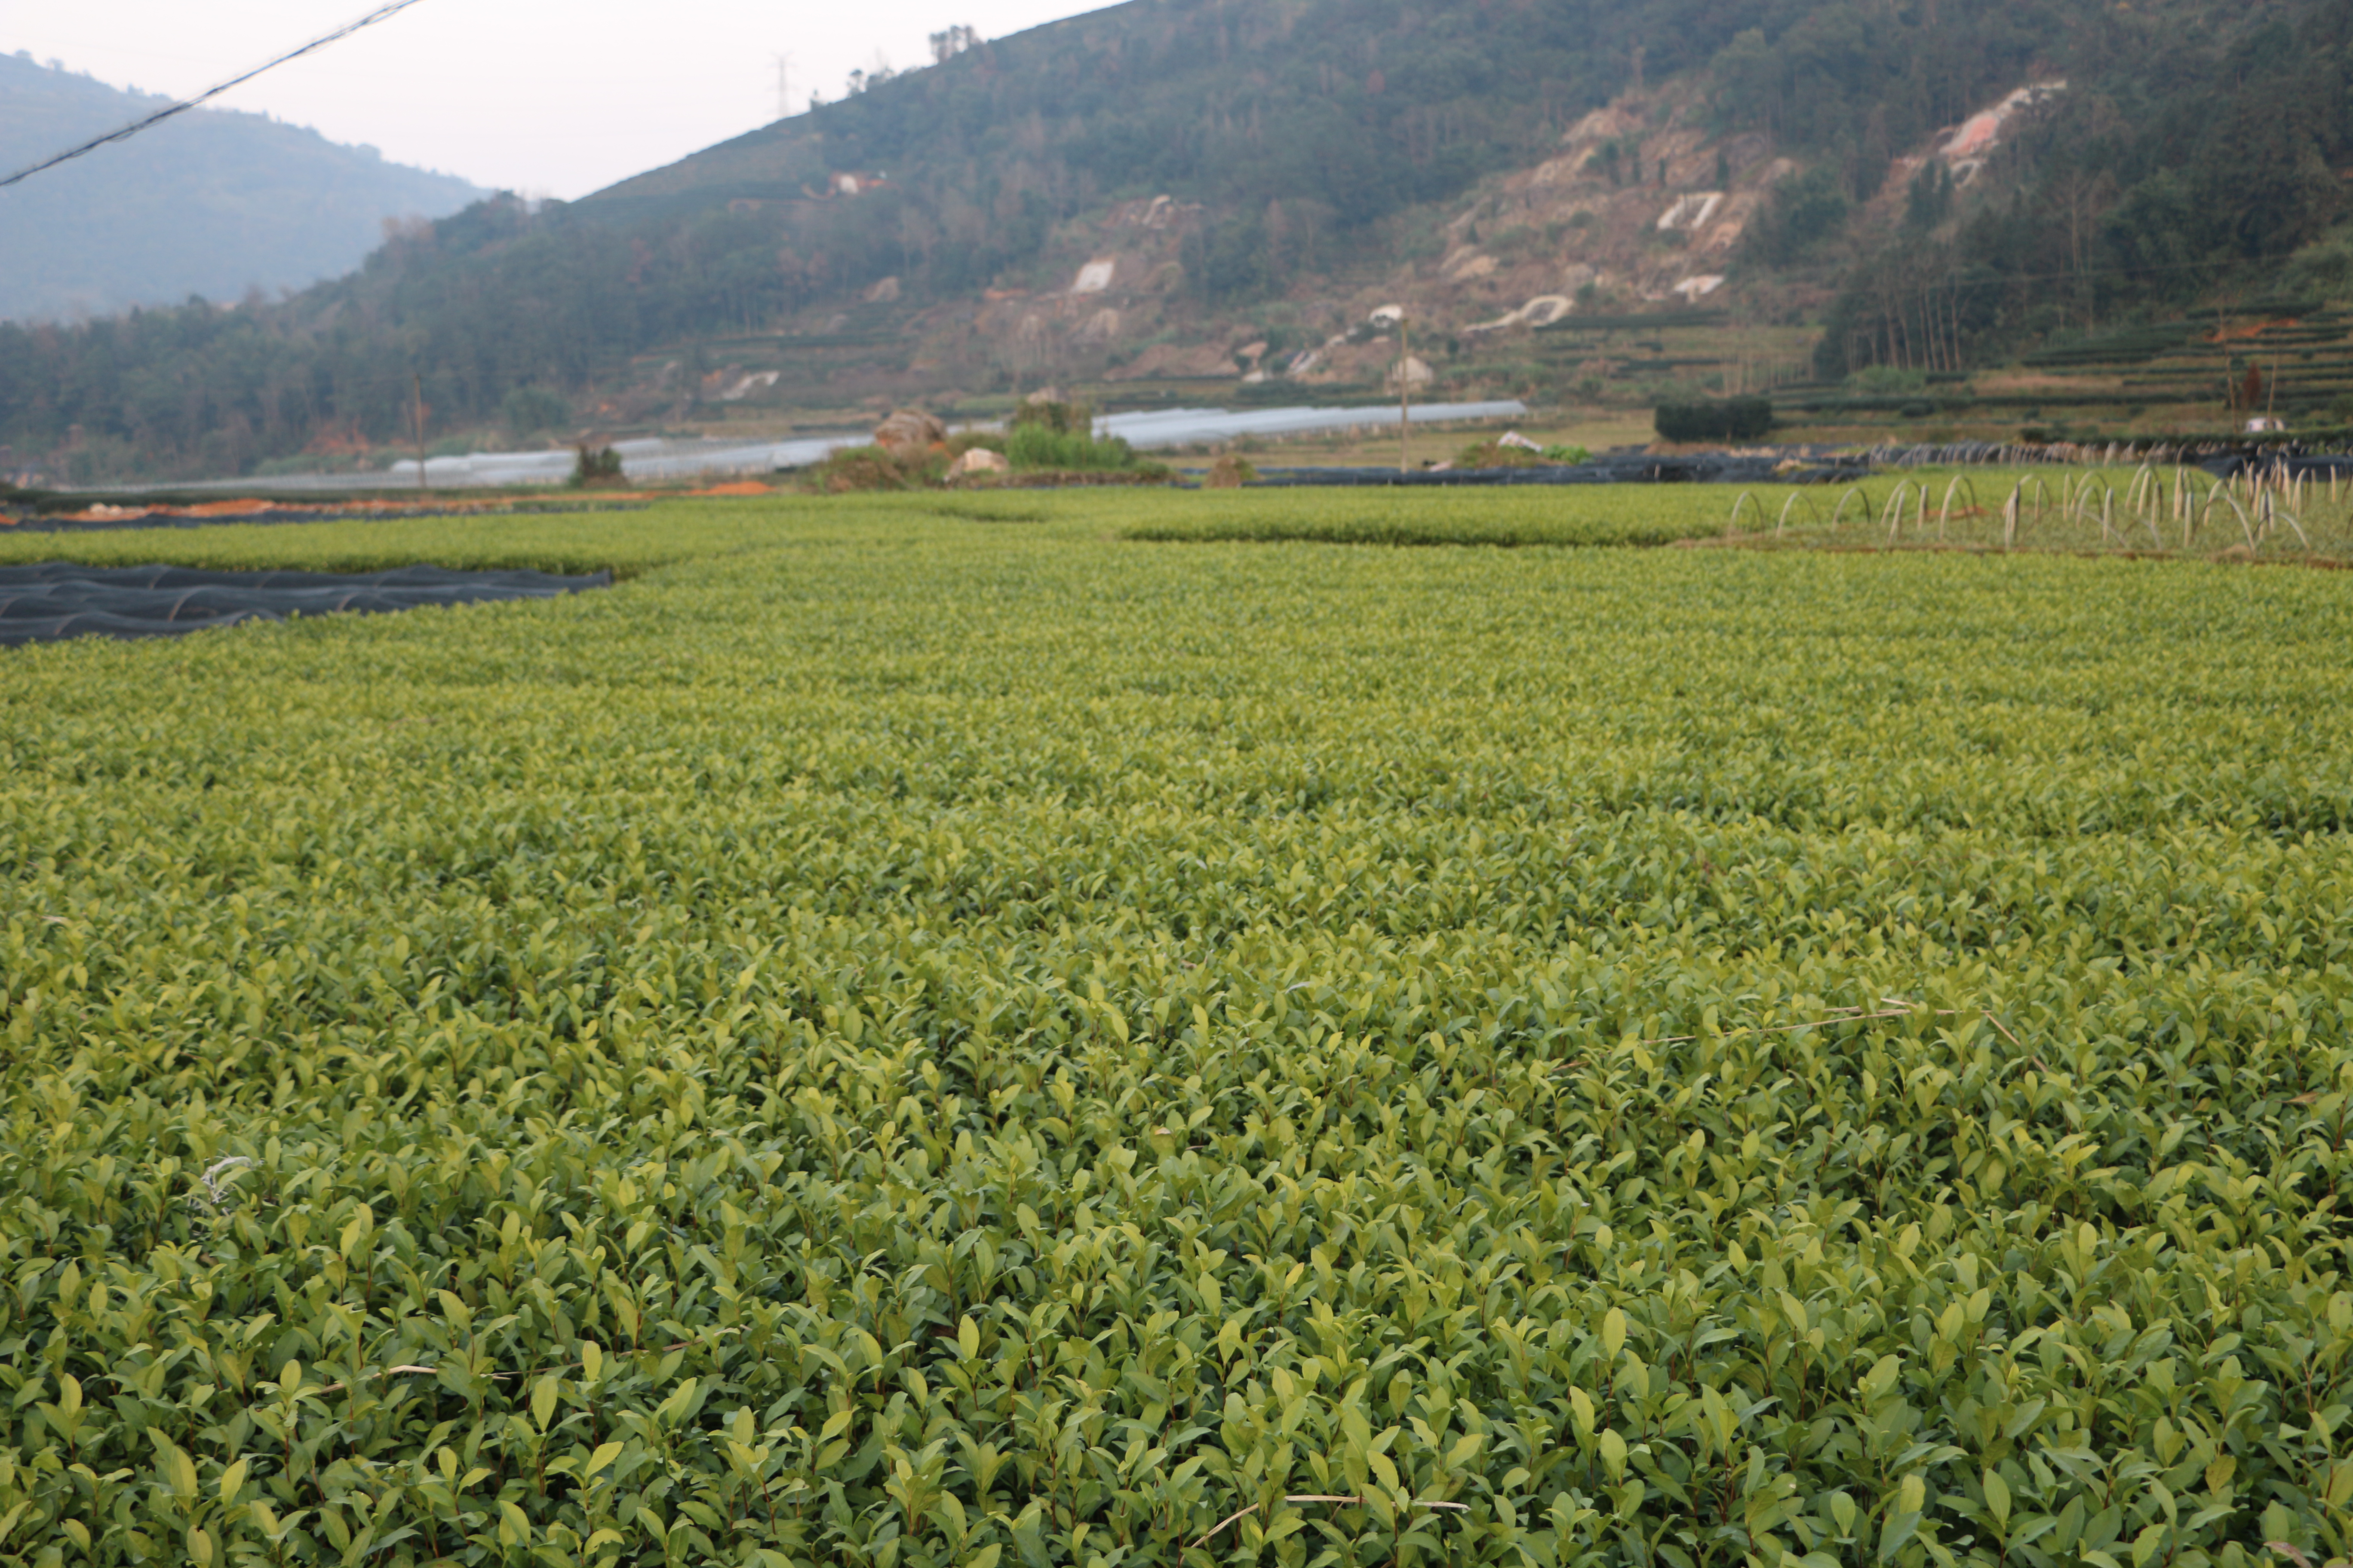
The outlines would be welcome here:
[[[2348,1552],[2341,574],[1129,505],[66,541],[0,1556]]]

